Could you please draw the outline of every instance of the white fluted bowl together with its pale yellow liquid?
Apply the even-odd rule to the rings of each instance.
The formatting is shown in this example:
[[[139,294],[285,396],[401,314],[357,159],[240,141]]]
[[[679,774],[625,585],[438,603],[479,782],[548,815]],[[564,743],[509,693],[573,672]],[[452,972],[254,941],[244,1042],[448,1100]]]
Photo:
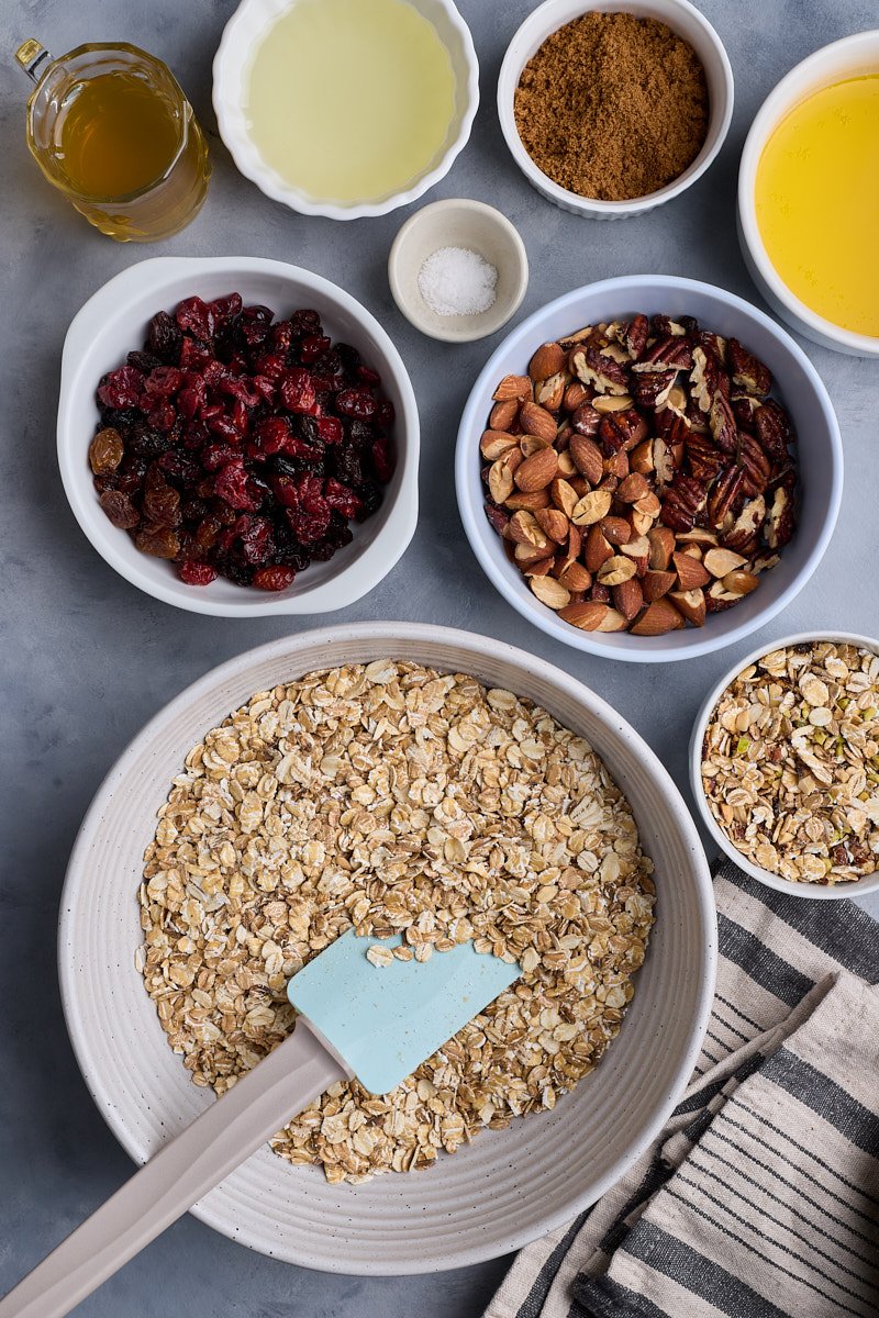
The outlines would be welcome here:
[[[213,61],[239,170],[303,215],[385,215],[441,179],[478,105],[451,0],[244,0]]]

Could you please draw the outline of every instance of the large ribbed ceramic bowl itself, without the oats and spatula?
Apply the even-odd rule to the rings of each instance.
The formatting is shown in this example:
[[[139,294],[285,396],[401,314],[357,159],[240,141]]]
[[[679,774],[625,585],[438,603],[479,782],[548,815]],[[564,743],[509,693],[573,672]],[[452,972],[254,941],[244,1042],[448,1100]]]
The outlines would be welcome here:
[[[210,672],[134,739],[99,788],[61,903],[61,985],[95,1102],[142,1162],[212,1102],[169,1048],[134,969],[137,887],[156,809],[187,750],[253,692],[315,668],[395,656],[519,692],[585,735],[633,805],[656,866],[647,960],[619,1037],[552,1112],[485,1131],[424,1174],[328,1185],[268,1147],[194,1210],[254,1249],[332,1272],[414,1273],[496,1257],[568,1222],[659,1133],[710,1010],[716,929],[708,866],[671,778],[609,705],[567,673],[488,637],[353,623],[285,638]]]

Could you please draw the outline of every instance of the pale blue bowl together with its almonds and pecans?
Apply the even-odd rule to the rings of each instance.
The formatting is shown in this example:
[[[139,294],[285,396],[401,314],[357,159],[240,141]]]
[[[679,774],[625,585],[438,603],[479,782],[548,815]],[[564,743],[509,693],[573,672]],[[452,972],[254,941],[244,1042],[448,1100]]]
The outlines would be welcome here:
[[[662,663],[739,641],[803,589],[836,525],[842,442],[767,315],[626,275],[557,298],[492,355],[456,485],[473,552],[525,618]]]

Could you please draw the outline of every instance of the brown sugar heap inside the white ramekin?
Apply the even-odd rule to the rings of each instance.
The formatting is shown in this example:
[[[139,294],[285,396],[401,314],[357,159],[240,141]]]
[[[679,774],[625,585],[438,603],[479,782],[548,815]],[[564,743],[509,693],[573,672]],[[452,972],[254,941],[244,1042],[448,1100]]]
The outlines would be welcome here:
[[[692,165],[708,132],[705,70],[655,18],[584,13],[547,37],[515,91],[522,145],[581,196],[646,196]]]

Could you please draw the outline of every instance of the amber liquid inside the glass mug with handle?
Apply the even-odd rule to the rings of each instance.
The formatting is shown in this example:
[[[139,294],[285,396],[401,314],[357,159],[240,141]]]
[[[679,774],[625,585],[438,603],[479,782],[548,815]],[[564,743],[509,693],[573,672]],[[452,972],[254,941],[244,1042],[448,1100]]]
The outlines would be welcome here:
[[[128,72],[83,82],[58,124],[58,159],[86,196],[121,198],[157,182],[179,146],[174,107]]]

